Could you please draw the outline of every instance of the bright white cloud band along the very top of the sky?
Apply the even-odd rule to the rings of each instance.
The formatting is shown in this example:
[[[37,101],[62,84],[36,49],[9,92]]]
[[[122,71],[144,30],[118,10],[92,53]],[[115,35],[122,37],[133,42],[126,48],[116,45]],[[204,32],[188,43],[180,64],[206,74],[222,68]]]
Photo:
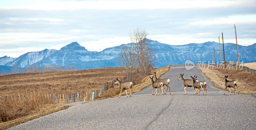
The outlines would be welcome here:
[[[11,3],[12,2],[12,3]],[[212,8],[226,7],[241,4],[242,0],[86,0],[86,1],[60,1],[60,0],[13,0],[2,2],[2,9],[33,9],[33,10],[74,10],[74,9],[184,9],[184,8]],[[244,1],[243,1],[244,2]],[[249,1],[252,3],[252,1]],[[14,4],[15,3],[15,4]]]

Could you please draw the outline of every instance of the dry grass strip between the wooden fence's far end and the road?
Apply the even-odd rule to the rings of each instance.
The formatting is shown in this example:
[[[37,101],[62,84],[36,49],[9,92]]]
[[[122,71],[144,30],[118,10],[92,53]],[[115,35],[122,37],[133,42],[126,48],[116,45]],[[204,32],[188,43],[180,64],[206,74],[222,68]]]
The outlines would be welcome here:
[[[148,77],[149,75],[156,72],[157,78],[160,78],[161,75],[166,73],[169,69],[170,69],[170,65],[159,68],[159,69],[153,68],[153,70],[151,70],[151,72],[148,74],[140,73],[140,75],[138,75],[137,77],[134,78],[134,79],[136,79],[137,84],[132,86],[132,93],[140,92],[144,88],[151,85],[151,81]],[[118,85],[116,85],[114,88],[109,89],[101,96],[96,97],[95,100],[101,100],[101,99],[106,99],[106,98],[110,98],[110,97],[119,97],[119,94],[120,94],[120,88]],[[127,94],[128,95],[130,94],[129,89],[127,89]],[[123,90],[121,93],[121,96],[124,96],[124,95],[126,95],[125,90]]]

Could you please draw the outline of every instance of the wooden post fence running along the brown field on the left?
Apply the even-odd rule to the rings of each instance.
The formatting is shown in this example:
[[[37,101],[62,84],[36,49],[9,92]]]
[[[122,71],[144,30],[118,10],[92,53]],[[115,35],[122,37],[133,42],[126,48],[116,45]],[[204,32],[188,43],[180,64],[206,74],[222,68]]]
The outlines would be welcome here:
[[[124,80],[125,78],[121,79],[121,82]],[[58,94],[58,95],[52,95],[52,94],[38,94],[38,95],[30,95],[30,96],[5,96],[2,97],[0,96],[0,100],[22,100],[24,98],[34,98],[34,97],[42,97],[42,98],[48,98],[48,99],[52,99],[53,101],[56,101],[56,103],[73,103],[73,102],[81,102],[81,101],[89,101],[89,100],[94,100],[97,96],[100,96],[102,94],[104,94],[108,89],[110,88],[114,88],[116,80],[113,80],[112,82],[107,82],[104,83],[102,87],[100,87],[98,90],[93,90],[93,91],[89,91],[89,92],[77,92],[77,93],[73,93],[73,94]],[[62,99],[61,99],[62,98]]]

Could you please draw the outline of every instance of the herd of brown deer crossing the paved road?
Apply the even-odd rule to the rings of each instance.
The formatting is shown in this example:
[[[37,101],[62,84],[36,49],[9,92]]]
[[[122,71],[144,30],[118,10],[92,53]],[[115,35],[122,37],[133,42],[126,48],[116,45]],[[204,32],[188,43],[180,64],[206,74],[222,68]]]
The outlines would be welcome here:
[[[195,75],[194,75],[194,77],[190,76],[190,77],[191,77],[191,80],[190,80],[190,79],[184,79],[184,78],[183,78],[183,75],[184,75],[184,73],[183,73],[183,74],[180,74],[180,77],[179,77],[178,80],[180,80],[180,81],[184,84],[184,86],[185,86],[185,88],[184,88],[184,90],[185,90],[185,95],[187,94],[187,89],[188,89],[188,87],[194,87],[195,95],[196,95],[196,94],[199,95],[199,93],[200,93],[200,91],[201,91],[200,88],[202,88],[203,90],[205,90],[205,94],[204,94],[204,92],[203,92],[203,95],[206,95],[206,93],[207,93],[207,90],[206,90],[206,81],[200,81],[200,82],[199,82],[199,81],[196,79],[197,76],[195,76]],[[160,95],[160,93],[161,93],[161,90],[162,90],[162,95],[164,95],[164,94],[166,95],[166,91],[168,90],[168,88],[169,88],[169,92],[170,92],[170,94],[171,94],[171,88],[170,88],[170,86],[169,86],[170,79],[168,79],[168,78],[157,79],[157,78],[156,78],[156,72],[154,72],[154,74],[152,74],[151,76],[149,76],[149,78],[150,78],[150,80],[151,80],[151,82],[152,82],[152,87],[153,87],[153,89],[152,89],[152,95],[155,95],[155,93],[156,93],[156,95],[157,95],[157,88],[160,89],[159,95]],[[235,80],[229,81],[229,80],[227,80],[227,78],[228,78],[228,75],[226,75],[226,76],[222,79],[222,81],[225,82],[226,89],[229,88],[229,95],[231,95],[231,92],[230,92],[230,88],[231,88],[231,87],[235,89],[235,91],[234,91],[234,95],[235,95],[236,88],[237,88],[237,86],[236,86],[236,81],[235,81]],[[131,96],[132,96],[132,82],[130,82],[130,81],[128,81],[128,82],[121,82],[121,81],[118,80],[118,79],[116,79],[116,80],[117,80],[117,81],[116,81],[115,83],[118,84],[119,87],[120,87],[120,89],[121,89],[121,90],[120,90],[120,95],[119,95],[119,97],[121,96],[121,92],[122,92],[123,89],[124,89],[125,92],[126,92],[126,97],[128,97],[128,95],[127,95],[127,89],[130,89],[130,91],[131,91],[131,92],[130,92],[130,97],[131,97]],[[164,89],[164,85],[167,87],[166,90]],[[155,92],[154,92],[154,94],[153,94],[154,89],[155,89]],[[164,89],[164,92],[163,92],[163,89]],[[224,95],[225,95],[226,89],[224,90]],[[239,94],[238,88],[237,88],[237,94]]]

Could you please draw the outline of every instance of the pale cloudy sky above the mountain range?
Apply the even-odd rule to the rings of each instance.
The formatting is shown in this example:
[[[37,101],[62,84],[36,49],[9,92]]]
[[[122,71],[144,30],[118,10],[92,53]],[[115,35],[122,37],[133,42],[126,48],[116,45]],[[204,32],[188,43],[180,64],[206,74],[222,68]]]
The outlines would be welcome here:
[[[256,43],[255,0],[1,0],[0,57],[78,42],[89,51],[130,42],[145,28],[151,40],[182,45]],[[221,41],[222,42],[222,41]]]

